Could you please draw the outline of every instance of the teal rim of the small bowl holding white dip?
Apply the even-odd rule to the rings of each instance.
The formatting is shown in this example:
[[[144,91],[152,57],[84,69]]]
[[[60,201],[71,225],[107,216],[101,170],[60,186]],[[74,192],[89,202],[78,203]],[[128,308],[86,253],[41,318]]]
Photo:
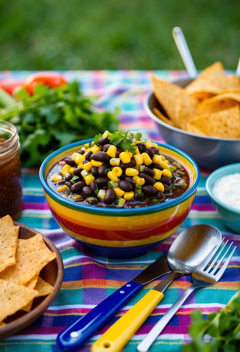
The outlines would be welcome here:
[[[219,174],[219,172],[221,172],[221,171],[223,171],[223,170],[227,170],[227,169],[229,169],[229,168],[232,168],[233,166],[236,166],[236,165],[240,166],[240,163],[228,164],[228,165],[222,166],[221,168],[218,168],[218,169],[214,170],[214,171],[208,176],[208,178],[207,178],[207,180],[206,180],[206,189],[207,189],[207,193],[208,193],[210,199],[211,199],[214,203],[216,203],[218,206],[220,206],[220,207],[222,207],[222,208],[228,210],[230,213],[234,213],[234,214],[240,215],[240,210],[238,210],[238,209],[236,209],[236,208],[233,208],[233,207],[230,207],[229,205],[227,205],[227,204],[221,202],[219,199],[217,199],[217,198],[215,197],[215,195],[213,194],[213,191],[212,191],[213,186],[214,186],[214,183],[215,183],[217,180],[219,180],[219,178],[221,178],[222,176],[225,176],[225,175],[221,175],[221,176],[216,177],[216,174]],[[216,178],[215,178],[215,182],[213,182],[212,186],[210,186],[210,183],[213,181],[214,177],[216,177]]]

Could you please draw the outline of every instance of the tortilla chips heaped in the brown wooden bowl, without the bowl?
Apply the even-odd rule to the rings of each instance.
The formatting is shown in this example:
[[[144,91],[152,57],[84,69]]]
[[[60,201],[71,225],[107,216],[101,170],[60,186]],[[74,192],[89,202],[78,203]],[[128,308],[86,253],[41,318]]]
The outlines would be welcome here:
[[[38,233],[30,239],[18,238],[19,226],[11,216],[0,219],[0,327],[18,310],[29,312],[35,297],[54,288],[39,277],[42,268],[56,258]]]

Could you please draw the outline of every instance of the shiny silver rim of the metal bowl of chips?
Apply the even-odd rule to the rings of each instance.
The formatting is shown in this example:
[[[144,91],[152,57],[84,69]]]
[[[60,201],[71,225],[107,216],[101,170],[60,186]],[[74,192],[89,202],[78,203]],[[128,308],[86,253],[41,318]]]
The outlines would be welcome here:
[[[149,117],[151,117],[151,119],[153,119],[154,121],[157,122],[157,124],[159,125],[162,125],[166,128],[169,128],[170,130],[172,131],[175,131],[175,132],[178,132],[178,133],[182,133],[182,134],[187,134],[188,136],[194,136],[194,137],[198,137],[198,138],[202,138],[202,139],[211,139],[211,140],[216,140],[216,141],[226,141],[226,142],[232,142],[232,143],[236,143],[238,142],[240,144],[240,139],[234,139],[234,138],[219,138],[219,137],[209,137],[209,136],[201,136],[200,134],[196,134],[196,133],[191,133],[191,132],[188,132],[188,131],[185,131],[185,130],[181,130],[181,128],[177,128],[177,127],[174,127],[174,126],[171,126],[169,124],[167,124],[166,122],[160,120],[150,109],[149,107],[149,100],[151,98],[151,96],[154,95],[154,92],[151,91],[149,92],[145,98],[144,98],[144,101],[143,101],[143,106],[144,106],[144,109],[147,113],[147,115],[149,115]],[[157,99],[157,98],[156,98]]]

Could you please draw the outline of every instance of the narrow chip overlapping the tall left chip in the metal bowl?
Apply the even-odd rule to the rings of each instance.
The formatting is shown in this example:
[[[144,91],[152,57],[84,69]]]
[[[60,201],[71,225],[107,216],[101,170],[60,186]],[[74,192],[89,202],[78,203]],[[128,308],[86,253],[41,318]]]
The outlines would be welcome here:
[[[185,130],[187,122],[198,114],[199,102],[196,98],[188,94],[181,94],[177,102],[177,114],[179,126]]]

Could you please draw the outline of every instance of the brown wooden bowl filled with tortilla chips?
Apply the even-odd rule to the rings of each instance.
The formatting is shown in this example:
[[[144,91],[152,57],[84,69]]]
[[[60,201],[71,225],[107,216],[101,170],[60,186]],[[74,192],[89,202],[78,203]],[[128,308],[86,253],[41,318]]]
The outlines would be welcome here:
[[[39,318],[56,297],[63,261],[55,245],[9,215],[0,219],[0,339]]]

